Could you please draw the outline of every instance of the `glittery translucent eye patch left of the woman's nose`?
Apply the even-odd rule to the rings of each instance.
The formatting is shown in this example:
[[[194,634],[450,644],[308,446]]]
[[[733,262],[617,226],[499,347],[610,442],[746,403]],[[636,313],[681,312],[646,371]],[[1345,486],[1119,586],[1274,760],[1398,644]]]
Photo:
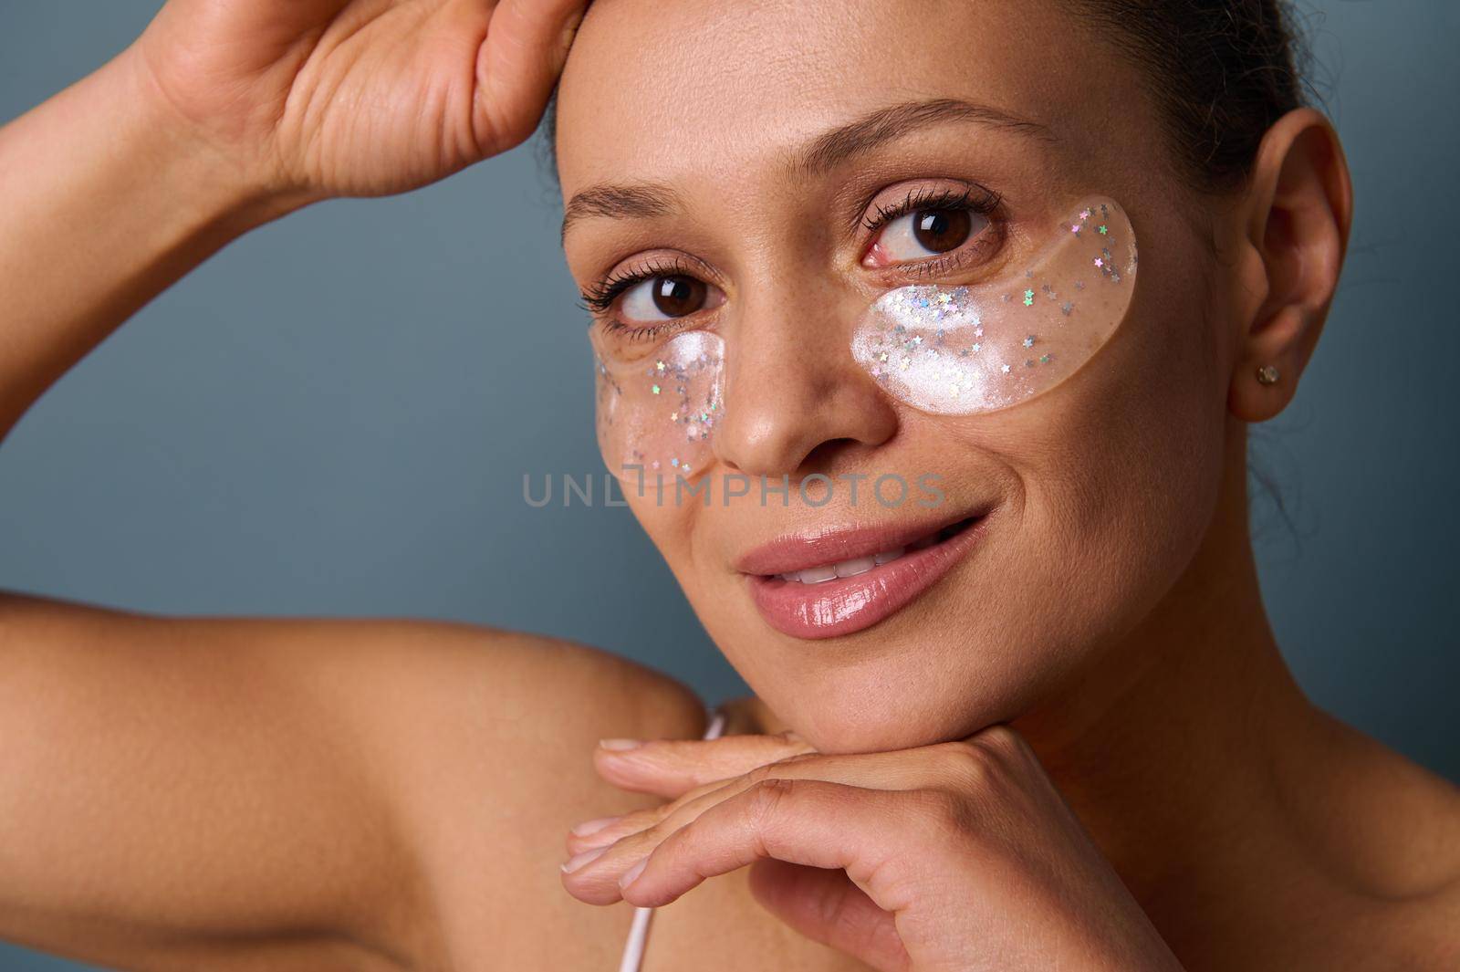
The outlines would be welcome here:
[[[685,331],[634,360],[609,353],[597,330],[590,331],[590,339],[599,450],[609,471],[641,483],[658,476],[688,477],[707,466],[710,436],[724,410],[720,336]]]

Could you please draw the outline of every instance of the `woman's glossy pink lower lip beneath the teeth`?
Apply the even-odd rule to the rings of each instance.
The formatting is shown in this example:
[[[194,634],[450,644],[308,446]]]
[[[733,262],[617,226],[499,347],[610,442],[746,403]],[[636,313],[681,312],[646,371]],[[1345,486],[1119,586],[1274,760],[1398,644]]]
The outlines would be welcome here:
[[[933,587],[978,541],[987,517],[962,533],[921,550],[910,550],[866,574],[823,584],[778,576],[750,576],[750,598],[761,617],[793,638],[837,638],[872,628]]]

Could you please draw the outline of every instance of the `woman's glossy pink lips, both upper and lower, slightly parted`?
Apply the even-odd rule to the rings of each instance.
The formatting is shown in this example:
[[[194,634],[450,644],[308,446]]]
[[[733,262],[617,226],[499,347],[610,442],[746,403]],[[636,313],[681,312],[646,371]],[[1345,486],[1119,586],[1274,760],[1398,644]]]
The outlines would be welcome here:
[[[787,537],[746,556],[740,569],[750,575],[746,578],[750,598],[771,628],[793,638],[837,638],[872,628],[933,587],[978,543],[987,521],[987,515],[978,515],[948,540],[825,584],[799,584],[775,575],[907,546],[940,527]]]

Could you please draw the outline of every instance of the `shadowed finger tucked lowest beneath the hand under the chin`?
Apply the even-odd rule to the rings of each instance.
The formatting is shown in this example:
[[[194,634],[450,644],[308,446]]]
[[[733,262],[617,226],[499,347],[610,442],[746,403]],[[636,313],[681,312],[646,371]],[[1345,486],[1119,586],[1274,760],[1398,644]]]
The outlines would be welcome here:
[[[793,931],[857,956],[877,972],[905,972],[911,966],[892,915],[877,908],[845,871],[768,857],[750,865],[750,895]]]

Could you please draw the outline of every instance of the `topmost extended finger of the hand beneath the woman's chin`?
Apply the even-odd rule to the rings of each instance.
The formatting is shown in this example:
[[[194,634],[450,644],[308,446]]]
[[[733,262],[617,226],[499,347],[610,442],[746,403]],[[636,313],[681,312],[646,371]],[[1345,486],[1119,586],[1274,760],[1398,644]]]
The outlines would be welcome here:
[[[673,800],[695,787],[815,752],[800,736],[785,731],[715,740],[651,740],[632,749],[600,746],[593,755],[593,765],[599,775],[623,790]]]

